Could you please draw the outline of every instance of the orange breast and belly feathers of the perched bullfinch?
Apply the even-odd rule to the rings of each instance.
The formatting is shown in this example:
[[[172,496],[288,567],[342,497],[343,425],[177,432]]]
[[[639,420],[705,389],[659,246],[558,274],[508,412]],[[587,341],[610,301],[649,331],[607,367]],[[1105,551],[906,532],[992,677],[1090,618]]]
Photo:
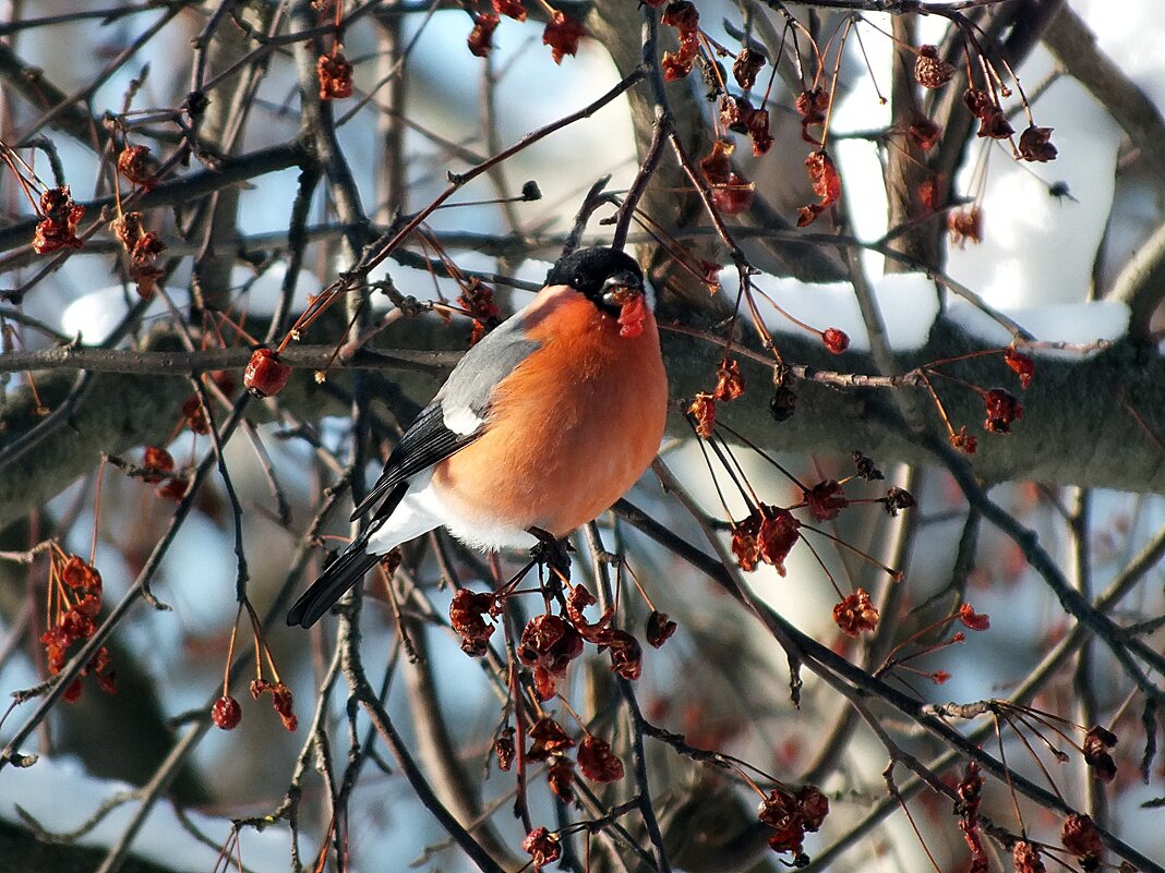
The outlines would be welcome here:
[[[543,345],[494,392],[486,433],[433,469],[451,509],[564,537],[617,501],[663,439],[668,381],[655,318],[638,336],[582,294],[548,289],[525,318]]]

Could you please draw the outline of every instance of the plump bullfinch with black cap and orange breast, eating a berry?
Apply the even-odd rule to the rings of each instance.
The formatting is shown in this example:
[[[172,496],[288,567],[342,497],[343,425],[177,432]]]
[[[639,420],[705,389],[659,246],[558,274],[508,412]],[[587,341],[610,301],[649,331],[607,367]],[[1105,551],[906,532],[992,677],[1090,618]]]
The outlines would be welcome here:
[[[651,464],[666,414],[638,263],[606,247],[564,255],[405,430],[352,513],[374,510],[367,526],[288,624],[311,627],[382,555],[439,526],[482,551],[560,549]]]

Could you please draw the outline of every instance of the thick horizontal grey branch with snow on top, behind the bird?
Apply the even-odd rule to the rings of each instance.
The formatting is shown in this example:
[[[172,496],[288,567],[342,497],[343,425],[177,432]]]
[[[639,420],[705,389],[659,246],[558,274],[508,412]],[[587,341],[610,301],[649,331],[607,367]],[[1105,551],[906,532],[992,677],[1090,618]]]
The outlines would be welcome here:
[[[409,345],[431,350],[361,352],[351,361],[338,361],[330,378],[344,385],[347,369],[389,369],[400,374],[394,377],[395,384],[414,400],[424,402],[437,385],[433,377],[465,348],[460,331],[451,332],[429,320],[410,320],[400,331],[386,333],[387,342],[400,341],[394,338],[407,334]],[[885,391],[913,389],[841,391],[827,384],[836,384],[832,377],[818,383],[814,368],[832,371],[839,367],[839,360],[822,352],[816,341],[792,336],[781,336],[778,341],[786,360],[809,367],[809,378],[797,389],[800,395],[797,414],[776,424],[768,412],[771,371],[744,362],[749,391],[742,399],[720,406],[725,423],[772,449],[842,454],[861,449],[880,461],[933,463],[930,453],[911,434],[888,433],[869,417],[877,404],[891,403]],[[711,388],[721,345],[665,329],[663,347],[673,398],[690,398]],[[318,369],[326,362],[324,348],[292,345],[288,348],[288,361],[296,367]],[[940,320],[924,348],[895,360],[898,369],[908,371],[929,361],[982,350],[981,342]],[[165,440],[177,421],[178,407],[190,393],[189,384],[178,374],[238,367],[247,356],[241,349],[196,354],[99,353],[70,347],[36,354],[55,356],[62,367],[85,362],[93,363],[94,369],[115,371],[92,377],[86,402],[36,452],[19,464],[0,467],[0,524],[10,523],[58,494],[92,469],[103,452],[115,454]],[[70,357],[76,360],[70,363]],[[854,372],[873,371],[873,362],[859,355],[849,355],[842,363]],[[122,372],[132,368],[175,376],[143,375],[140,369],[134,375]],[[962,362],[951,371],[983,388],[1012,385],[1014,379],[998,355]],[[49,377],[42,372],[36,379],[42,399],[52,409],[73,384],[75,374],[62,370]],[[1114,391],[1114,385],[1120,385],[1120,390]],[[966,425],[969,433],[979,432],[984,418],[979,395],[962,388],[940,385],[939,390],[955,425]],[[313,417],[327,409],[344,414],[343,407],[330,398],[326,385],[315,384],[306,372],[297,375],[280,399],[289,409]],[[1012,434],[981,433],[979,452],[969,461],[983,481],[1022,478],[1048,484],[1165,491],[1165,455],[1150,436],[1150,433],[1158,438],[1165,434],[1165,359],[1160,355],[1131,342],[1118,342],[1086,359],[1037,359],[1036,377],[1023,392],[1022,402],[1024,418]],[[17,391],[0,410],[0,420],[7,425],[0,439],[2,447],[41,419],[28,391]],[[683,431],[678,418],[672,426],[677,433]],[[933,409],[925,426],[931,436],[946,440]]]

